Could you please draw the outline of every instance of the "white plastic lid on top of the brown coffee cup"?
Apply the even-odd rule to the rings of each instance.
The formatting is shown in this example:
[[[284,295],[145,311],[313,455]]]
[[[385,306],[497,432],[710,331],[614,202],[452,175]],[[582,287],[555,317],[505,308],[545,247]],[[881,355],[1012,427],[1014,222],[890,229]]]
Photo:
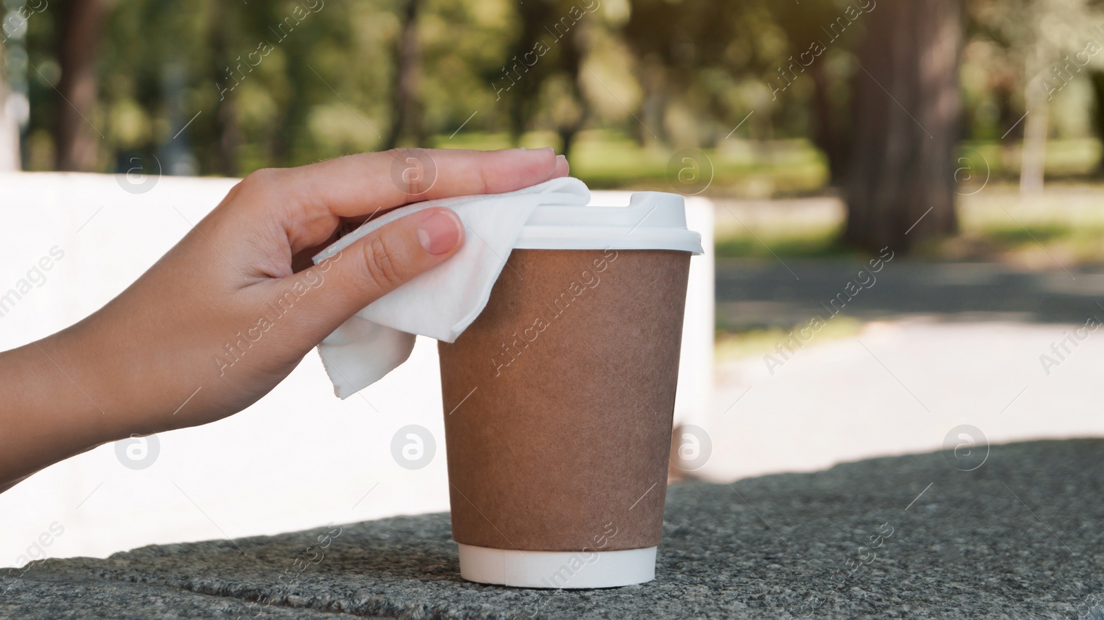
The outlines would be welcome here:
[[[702,254],[679,194],[637,192],[628,206],[541,205],[521,229],[520,249],[673,249]]]

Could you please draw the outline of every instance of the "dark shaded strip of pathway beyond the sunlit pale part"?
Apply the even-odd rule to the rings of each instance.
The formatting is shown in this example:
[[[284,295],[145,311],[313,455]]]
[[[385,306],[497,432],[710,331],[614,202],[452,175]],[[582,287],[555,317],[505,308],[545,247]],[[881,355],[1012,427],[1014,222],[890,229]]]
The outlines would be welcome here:
[[[841,314],[873,320],[934,313],[953,320],[1104,321],[1104,270],[1016,270],[999,263],[895,258],[877,274],[854,260],[716,260],[716,318],[728,329],[804,325],[861,290]],[[869,287],[869,288],[867,288]],[[842,295],[842,298],[838,296]]]

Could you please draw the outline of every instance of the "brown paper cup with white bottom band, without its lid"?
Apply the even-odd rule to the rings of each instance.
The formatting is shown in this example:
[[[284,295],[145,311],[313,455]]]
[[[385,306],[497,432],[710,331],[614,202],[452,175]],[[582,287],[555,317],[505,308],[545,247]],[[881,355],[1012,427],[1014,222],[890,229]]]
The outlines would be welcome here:
[[[654,578],[689,266],[689,252],[514,249],[479,318],[439,344],[465,578]]]

